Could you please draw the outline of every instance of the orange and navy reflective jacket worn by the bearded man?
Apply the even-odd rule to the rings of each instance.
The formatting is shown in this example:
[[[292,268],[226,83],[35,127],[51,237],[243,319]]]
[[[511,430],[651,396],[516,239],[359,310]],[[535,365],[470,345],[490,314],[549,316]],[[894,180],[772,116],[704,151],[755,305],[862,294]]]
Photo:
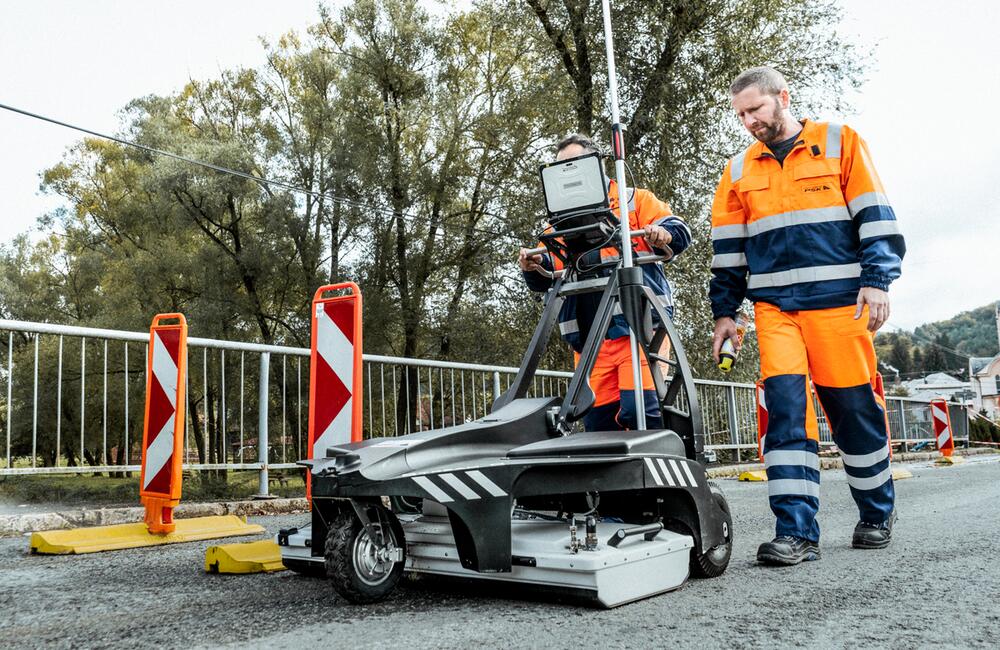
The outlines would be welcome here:
[[[888,289],[906,252],[865,142],[809,120],[784,165],[761,142],[726,164],[712,248],[715,318],[745,297],[782,311],[854,304],[860,287]]]

